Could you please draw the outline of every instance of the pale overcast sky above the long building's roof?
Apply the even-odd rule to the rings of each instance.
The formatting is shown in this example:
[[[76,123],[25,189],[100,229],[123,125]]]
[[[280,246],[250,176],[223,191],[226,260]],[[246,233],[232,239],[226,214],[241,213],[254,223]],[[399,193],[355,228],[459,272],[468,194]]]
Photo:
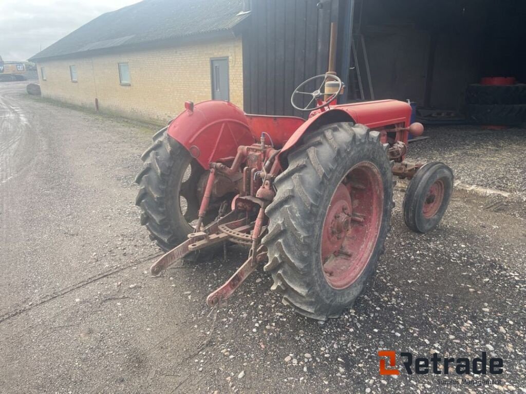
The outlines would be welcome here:
[[[26,60],[100,14],[139,0],[0,0],[0,56]]]

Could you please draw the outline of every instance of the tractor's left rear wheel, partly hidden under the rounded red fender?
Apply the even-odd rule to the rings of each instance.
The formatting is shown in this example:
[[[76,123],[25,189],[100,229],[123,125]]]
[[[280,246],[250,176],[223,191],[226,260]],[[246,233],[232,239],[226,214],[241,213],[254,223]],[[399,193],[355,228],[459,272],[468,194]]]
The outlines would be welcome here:
[[[141,156],[145,165],[135,179],[139,185],[135,204],[143,210],[140,220],[150,239],[168,251],[193,231],[198,185],[205,170],[166,130],[154,135],[153,144]]]

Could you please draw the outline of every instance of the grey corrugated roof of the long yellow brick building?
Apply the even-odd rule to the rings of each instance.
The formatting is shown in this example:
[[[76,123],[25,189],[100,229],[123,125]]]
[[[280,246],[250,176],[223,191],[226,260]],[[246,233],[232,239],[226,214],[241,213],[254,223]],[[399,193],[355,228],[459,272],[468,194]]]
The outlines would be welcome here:
[[[230,30],[249,15],[242,10],[243,0],[143,0],[100,15],[30,60]]]

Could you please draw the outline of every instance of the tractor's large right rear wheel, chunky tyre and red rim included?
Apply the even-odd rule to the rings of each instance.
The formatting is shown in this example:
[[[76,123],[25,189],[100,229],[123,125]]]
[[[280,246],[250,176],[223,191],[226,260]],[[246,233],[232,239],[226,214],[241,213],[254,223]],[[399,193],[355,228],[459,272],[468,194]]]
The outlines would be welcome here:
[[[334,123],[288,155],[262,241],[272,289],[296,312],[338,317],[375,272],[392,208],[386,149],[378,132]]]

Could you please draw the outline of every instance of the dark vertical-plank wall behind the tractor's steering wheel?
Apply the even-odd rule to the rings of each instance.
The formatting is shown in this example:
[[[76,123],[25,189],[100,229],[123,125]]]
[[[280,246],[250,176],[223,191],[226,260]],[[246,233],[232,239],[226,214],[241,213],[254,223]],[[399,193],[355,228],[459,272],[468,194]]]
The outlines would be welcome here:
[[[243,39],[244,109],[305,116],[290,104],[304,80],[327,71],[331,18],[338,0],[252,0]],[[308,114],[307,114],[308,115]]]

